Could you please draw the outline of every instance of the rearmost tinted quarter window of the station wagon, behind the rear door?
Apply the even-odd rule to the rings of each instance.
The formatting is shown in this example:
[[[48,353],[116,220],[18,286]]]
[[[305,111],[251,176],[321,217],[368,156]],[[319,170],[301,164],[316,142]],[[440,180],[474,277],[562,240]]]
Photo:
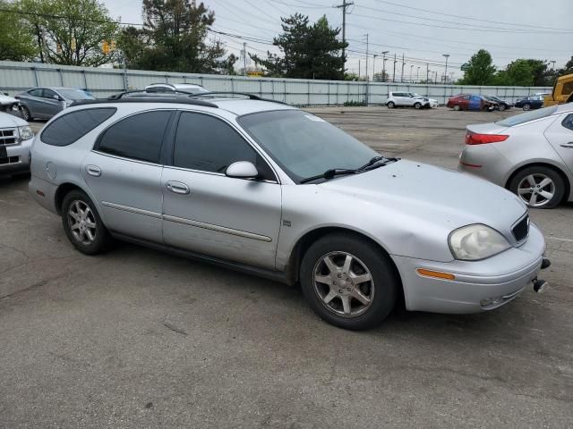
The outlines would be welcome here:
[[[42,131],[41,140],[51,146],[71,145],[100,123],[111,118],[116,110],[115,107],[104,107],[64,114]]]

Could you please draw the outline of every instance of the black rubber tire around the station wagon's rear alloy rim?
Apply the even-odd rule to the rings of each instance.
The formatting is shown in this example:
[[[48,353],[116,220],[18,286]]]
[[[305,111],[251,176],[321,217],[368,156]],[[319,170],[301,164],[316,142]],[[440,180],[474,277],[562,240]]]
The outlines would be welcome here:
[[[93,240],[89,240],[88,235],[86,235],[87,233],[83,232],[82,237],[86,240],[79,240],[77,237],[79,232],[73,232],[72,222],[74,218],[72,217],[72,214],[70,214],[70,208],[75,205],[76,202],[79,202],[81,206],[88,206],[90,208],[88,213],[91,215],[88,215],[84,223],[87,223],[87,221],[94,223],[95,228],[90,229],[84,226],[84,231],[89,229]],[[85,212],[86,211],[84,210],[84,213]],[[70,240],[73,247],[80,250],[81,253],[86,255],[97,255],[98,253],[107,251],[111,247],[113,240],[109,235],[106,226],[101,222],[96,206],[94,206],[86,193],[79,189],[71,190],[64,197],[64,202],[62,203],[62,224],[64,225],[65,235],[67,235],[68,240]]]

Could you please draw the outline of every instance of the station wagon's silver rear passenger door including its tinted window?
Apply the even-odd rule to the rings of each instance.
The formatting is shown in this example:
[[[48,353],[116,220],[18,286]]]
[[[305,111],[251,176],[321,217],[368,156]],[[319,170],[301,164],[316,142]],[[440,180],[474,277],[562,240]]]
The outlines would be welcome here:
[[[133,114],[104,130],[82,174],[109,230],[162,242],[162,146],[173,111]]]

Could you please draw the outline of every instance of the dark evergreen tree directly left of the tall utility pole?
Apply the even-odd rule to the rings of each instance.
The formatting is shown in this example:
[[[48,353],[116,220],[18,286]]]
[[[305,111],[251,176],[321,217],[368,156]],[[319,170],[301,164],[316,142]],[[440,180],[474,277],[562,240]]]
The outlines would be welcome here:
[[[265,67],[270,76],[299,79],[344,79],[342,48],[347,44],[338,40],[340,29],[332,29],[323,16],[310,25],[308,16],[295,13],[281,18],[283,33],[273,39],[283,55],[267,54],[263,59],[251,55],[252,60]]]

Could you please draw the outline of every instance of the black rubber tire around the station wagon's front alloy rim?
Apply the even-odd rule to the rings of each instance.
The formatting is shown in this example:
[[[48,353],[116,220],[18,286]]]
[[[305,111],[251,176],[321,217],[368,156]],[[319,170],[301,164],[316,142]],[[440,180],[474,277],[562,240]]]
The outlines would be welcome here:
[[[335,281],[338,280],[338,285],[337,282],[334,282],[336,286],[315,282],[315,272],[321,270],[321,267],[322,269],[326,267],[323,262],[324,257],[332,255],[333,259],[331,260],[334,261],[336,260],[334,258],[338,257],[337,254],[341,253],[347,253],[354,257],[353,264],[355,265],[348,270],[348,273],[333,273],[333,276],[348,275],[354,277],[361,275],[361,273],[362,275],[370,273],[372,280],[361,282],[358,285],[354,282],[346,283],[345,280],[348,281],[349,279],[335,278]],[[340,255],[340,257],[342,257],[342,261],[345,260],[344,255]],[[339,268],[344,269],[342,265]],[[365,267],[366,270],[361,270],[362,267]],[[332,273],[328,267],[326,269]],[[322,275],[322,277],[329,277],[329,274]],[[389,257],[371,242],[349,233],[330,234],[312,243],[301,262],[300,279],[304,297],[323,320],[340,328],[354,331],[369,329],[381,324],[395,307],[398,288],[401,287],[398,274]],[[330,292],[338,293],[338,288],[343,288],[340,290],[345,290],[346,295],[353,296],[353,298],[347,296],[346,298],[352,303],[349,306],[356,309],[355,315],[339,314],[345,312],[340,296],[330,299],[329,304],[321,298],[321,293],[323,298],[327,299],[325,297],[328,297]],[[371,298],[368,307],[354,298],[353,294],[357,288],[364,297]],[[353,305],[355,307],[352,307]]]

